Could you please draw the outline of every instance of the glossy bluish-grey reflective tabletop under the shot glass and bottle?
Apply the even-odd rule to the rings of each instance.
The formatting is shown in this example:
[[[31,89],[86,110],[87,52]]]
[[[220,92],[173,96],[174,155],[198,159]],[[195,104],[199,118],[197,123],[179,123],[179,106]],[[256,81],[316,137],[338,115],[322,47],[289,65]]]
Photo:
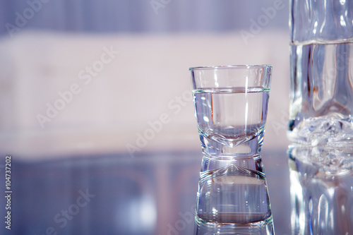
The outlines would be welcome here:
[[[6,229],[2,222],[0,234],[194,234],[201,157],[201,152],[150,152],[133,158],[110,153],[23,162],[12,156],[11,230]],[[319,198],[312,198],[307,190],[304,193],[305,183],[302,182],[306,174],[296,172],[302,167],[300,164],[293,167],[296,163],[289,160],[287,148],[263,150],[263,165],[275,234],[292,234],[291,215],[293,226],[297,226],[293,234],[302,234],[300,231],[305,227],[305,219],[308,220],[304,215],[307,212],[300,209],[301,205],[292,210],[291,183],[292,198],[297,198],[296,202],[300,204],[300,200],[305,201],[309,197],[311,204],[307,205],[311,212],[315,206],[337,204],[326,197],[326,203],[316,205],[325,199],[318,188],[311,188],[311,191],[320,194]],[[4,164],[0,167],[1,174],[4,174]],[[292,181],[289,180],[289,172]],[[295,178],[295,175],[302,177]],[[339,209],[328,206],[321,208],[326,211],[321,210],[321,217],[316,216],[318,221],[311,217],[313,222],[309,224],[325,229],[336,222],[330,220],[330,216],[323,216],[341,215],[340,222],[344,228],[340,231],[342,234],[347,234],[343,230],[352,232],[353,206],[347,206],[353,204],[353,187],[345,185],[344,190],[337,190],[335,183],[327,185],[334,188],[331,192],[337,194],[341,203],[337,204],[339,209],[346,205],[345,214],[330,213],[330,210]],[[4,188],[2,182],[1,188]],[[4,218],[4,196],[0,203]],[[315,215],[315,212],[311,214]],[[302,225],[298,227],[300,223]],[[321,234],[329,233],[321,231]]]

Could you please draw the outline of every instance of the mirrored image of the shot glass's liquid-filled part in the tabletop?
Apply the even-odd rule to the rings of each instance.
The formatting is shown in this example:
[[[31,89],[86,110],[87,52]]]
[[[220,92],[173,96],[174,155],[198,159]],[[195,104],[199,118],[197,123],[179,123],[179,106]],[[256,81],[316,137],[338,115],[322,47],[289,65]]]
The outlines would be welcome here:
[[[204,156],[197,205],[203,224],[252,226],[272,218],[260,155]]]

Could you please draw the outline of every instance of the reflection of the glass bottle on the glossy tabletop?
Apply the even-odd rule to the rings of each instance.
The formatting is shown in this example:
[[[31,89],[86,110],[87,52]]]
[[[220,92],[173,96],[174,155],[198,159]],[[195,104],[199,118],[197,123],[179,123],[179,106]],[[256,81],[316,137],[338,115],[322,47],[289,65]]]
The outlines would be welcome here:
[[[352,167],[328,171],[326,166],[311,161],[318,152],[323,157],[325,152],[333,154],[324,148],[289,147],[292,234],[353,234]],[[345,150],[345,159],[352,153]]]

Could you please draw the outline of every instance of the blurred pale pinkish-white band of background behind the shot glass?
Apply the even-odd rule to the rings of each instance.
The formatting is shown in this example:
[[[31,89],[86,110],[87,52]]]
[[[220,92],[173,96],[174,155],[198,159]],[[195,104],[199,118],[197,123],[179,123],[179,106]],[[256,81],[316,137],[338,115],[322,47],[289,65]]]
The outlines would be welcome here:
[[[119,53],[109,57],[107,50]],[[227,64],[273,64],[263,148],[287,145],[287,31],[264,31],[245,43],[238,31],[90,35],[23,30],[0,38],[0,63],[0,141],[6,154],[42,159],[128,154],[128,146],[140,152],[201,150],[188,68]],[[100,71],[89,75],[87,66]],[[70,88],[76,94],[68,95],[62,107],[58,92]],[[49,118],[47,103],[62,109]],[[41,119],[46,120],[41,125],[38,114],[50,121]],[[152,129],[148,122],[158,119],[164,120],[162,127],[154,135],[147,131],[150,140],[136,143],[139,134]]]

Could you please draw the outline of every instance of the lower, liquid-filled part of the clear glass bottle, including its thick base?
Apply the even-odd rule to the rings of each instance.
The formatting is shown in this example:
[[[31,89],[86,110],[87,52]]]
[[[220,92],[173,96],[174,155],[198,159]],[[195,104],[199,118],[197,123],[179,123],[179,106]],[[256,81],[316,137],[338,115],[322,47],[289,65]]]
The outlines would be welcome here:
[[[353,140],[353,42],[293,44],[290,140],[337,145]]]

